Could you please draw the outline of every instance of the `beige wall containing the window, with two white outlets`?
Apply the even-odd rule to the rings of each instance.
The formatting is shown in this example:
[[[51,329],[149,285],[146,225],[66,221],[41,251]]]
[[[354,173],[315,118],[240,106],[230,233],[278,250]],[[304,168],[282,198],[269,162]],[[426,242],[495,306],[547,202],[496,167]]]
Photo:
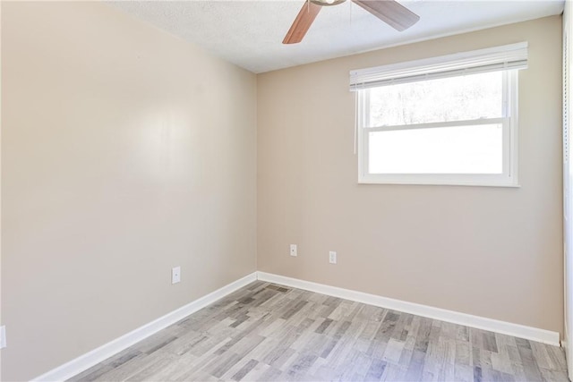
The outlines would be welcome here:
[[[258,269],[562,332],[560,29],[555,16],[259,75]],[[524,40],[521,188],[356,183],[350,70]]]

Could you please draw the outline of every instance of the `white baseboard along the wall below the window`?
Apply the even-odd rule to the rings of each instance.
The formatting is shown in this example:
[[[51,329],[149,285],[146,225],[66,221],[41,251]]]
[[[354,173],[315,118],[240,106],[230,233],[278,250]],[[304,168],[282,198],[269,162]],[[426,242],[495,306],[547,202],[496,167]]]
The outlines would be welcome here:
[[[346,300],[363,302],[369,305],[399,310],[417,316],[439,319],[440,321],[451,322],[453,324],[465,325],[466,327],[476,327],[478,329],[489,330],[503,335],[513,335],[519,338],[537,341],[543,344],[560,346],[560,334],[550,330],[537,327],[526,327],[524,325],[513,324],[492,318],[474,316],[460,313],[454,310],[434,308],[415,302],[400,301],[382,297],[375,294],[352,291],[325,284],[312,283],[292,277],[278,276],[265,272],[257,272],[257,278],[269,283],[282,284],[293,288],[304,289],[306,291],[328,294]]]

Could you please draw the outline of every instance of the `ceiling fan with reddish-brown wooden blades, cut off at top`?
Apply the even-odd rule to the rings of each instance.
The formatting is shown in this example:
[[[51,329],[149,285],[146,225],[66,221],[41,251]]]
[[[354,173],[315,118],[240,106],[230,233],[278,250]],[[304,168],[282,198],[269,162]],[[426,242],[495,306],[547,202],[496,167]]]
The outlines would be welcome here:
[[[311,28],[312,21],[321,11],[322,6],[337,5],[346,0],[306,0],[295,22],[286,33],[283,44],[296,44],[303,40],[306,31]],[[407,30],[414,25],[420,16],[398,4],[395,0],[352,0],[366,11],[378,17],[381,21],[389,24],[395,30]]]

